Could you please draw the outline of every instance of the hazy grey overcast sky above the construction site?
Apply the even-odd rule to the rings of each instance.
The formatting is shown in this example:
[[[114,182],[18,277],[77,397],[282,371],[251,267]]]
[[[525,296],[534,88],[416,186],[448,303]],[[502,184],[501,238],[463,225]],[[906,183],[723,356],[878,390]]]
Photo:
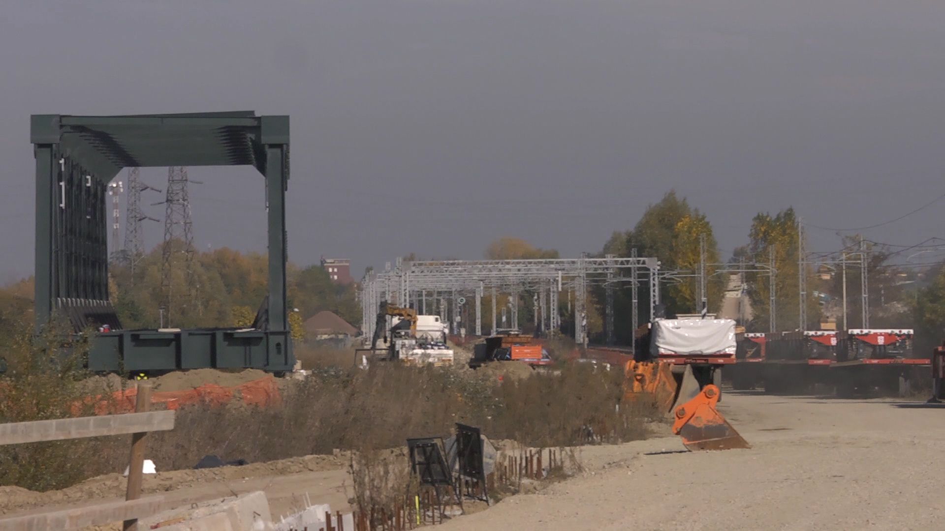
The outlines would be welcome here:
[[[943,28],[940,0],[12,0],[0,280],[32,270],[31,113],[290,114],[290,259],[355,276],[499,236],[597,251],[670,188],[725,256],[759,211],[885,221],[945,193]],[[191,177],[198,246],[265,251],[262,178]],[[943,208],[867,233],[942,235]]]

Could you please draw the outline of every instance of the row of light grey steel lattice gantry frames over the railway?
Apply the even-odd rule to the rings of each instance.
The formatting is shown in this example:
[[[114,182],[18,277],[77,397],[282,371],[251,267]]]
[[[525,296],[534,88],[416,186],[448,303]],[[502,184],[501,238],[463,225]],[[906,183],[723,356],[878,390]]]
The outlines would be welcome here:
[[[512,328],[517,328],[519,299],[523,292],[539,295],[541,321],[547,322],[549,331],[556,331],[561,321],[558,315],[558,294],[561,291],[575,294],[575,340],[587,344],[587,291],[589,285],[612,286],[615,283],[649,284],[650,317],[660,302],[660,286],[653,282],[660,273],[656,258],[570,258],[535,260],[448,260],[404,262],[398,259],[384,271],[370,273],[362,283],[362,331],[373,336],[376,312],[380,303],[409,304],[416,294],[432,291],[440,298],[440,316],[444,317],[444,299],[475,297],[476,333],[482,334],[482,297],[486,288],[492,294],[492,330],[495,332],[495,297],[503,293],[510,296]],[[645,272],[644,272],[645,271]],[[610,299],[612,302],[612,299]],[[612,315],[612,310],[610,311]],[[455,324],[455,309],[449,320]],[[547,317],[544,317],[547,316]]]

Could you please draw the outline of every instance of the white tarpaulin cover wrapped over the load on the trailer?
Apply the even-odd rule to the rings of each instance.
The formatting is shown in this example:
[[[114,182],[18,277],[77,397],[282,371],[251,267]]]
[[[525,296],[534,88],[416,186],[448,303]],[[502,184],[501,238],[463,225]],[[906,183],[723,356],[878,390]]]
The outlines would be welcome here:
[[[650,354],[734,354],[735,321],[731,319],[657,319]]]

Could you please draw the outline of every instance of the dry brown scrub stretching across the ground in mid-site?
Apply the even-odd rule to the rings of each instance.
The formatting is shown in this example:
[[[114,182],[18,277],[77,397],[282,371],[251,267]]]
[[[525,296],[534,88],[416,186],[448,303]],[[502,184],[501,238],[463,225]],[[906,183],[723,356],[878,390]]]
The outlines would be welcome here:
[[[533,447],[645,437],[644,420],[653,413],[620,403],[622,379],[622,371],[584,364],[563,364],[553,373],[535,372],[502,381],[482,371],[409,368],[395,363],[376,363],[368,369],[318,368],[303,381],[283,381],[281,405],[214,407],[208,403],[181,408],[174,430],[148,437],[146,457],[160,470],[180,470],[193,467],[206,454],[226,461],[261,462],[352,450],[368,459],[352,464],[366,471],[367,491],[381,481],[388,488],[378,490],[375,485],[374,491],[400,492],[399,487],[393,488],[400,480],[387,478],[383,471],[387,465],[371,461],[373,453],[403,447],[408,437],[449,434],[455,422],[479,426],[492,438],[516,439]],[[30,396],[47,400],[43,397],[49,395],[41,389],[72,388],[60,385],[62,381],[40,378],[36,381],[40,387],[30,391]],[[24,388],[27,380],[20,382],[18,388]],[[74,403],[73,393],[63,392],[59,402],[52,401],[60,406],[48,407],[30,420],[64,416],[61,404]],[[32,446],[17,450],[24,452]],[[127,437],[108,437],[39,448],[0,454],[4,456],[0,484],[61,488],[103,472],[121,471],[129,447]],[[0,452],[5,450],[0,447]]]

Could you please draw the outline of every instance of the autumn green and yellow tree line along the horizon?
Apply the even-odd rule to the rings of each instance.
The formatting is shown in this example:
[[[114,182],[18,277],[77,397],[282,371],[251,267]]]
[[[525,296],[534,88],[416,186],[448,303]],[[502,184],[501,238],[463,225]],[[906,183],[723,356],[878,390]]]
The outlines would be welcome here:
[[[799,220],[793,208],[781,212],[758,213],[751,221],[746,243],[728,256],[718,248],[713,225],[706,214],[693,206],[687,197],[675,191],[649,205],[636,224],[629,229],[613,231],[596,256],[657,257],[664,276],[661,280],[661,314],[675,316],[694,314],[701,310],[698,271],[703,256],[706,269],[707,311],[718,313],[726,300],[725,292],[733,284],[732,275],[743,278],[744,293],[750,313],[740,324],[747,331],[767,332],[771,328],[770,290],[775,290],[775,329],[799,328],[799,280],[807,284],[806,326],[816,329],[827,318],[836,321],[838,329],[862,326],[860,293],[860,256],[867,257],[868,300],[872,328],[915,328],[918,344],[929,348],[945,336],[945,266],[927,271],[902,269],[888,263],[898,251],[873,243],[860,243],[859,235],[844,237],[841,255],[846,263],[823,260],[809,255],[799,260],[806,243],[799,231]],[[861,248],[862,246],[862,248]],[[172,261],[170,304],[165,304],[162,285],[162,248],[159,246],[137,257],[132,268],[127,261],[110,266],[110,294],[115,310],[126,328],[181,328],[249,326],[267,292],[266,254],[240,252],[231,248],[194,251],[188,254],[175,242]],[[861,254],[865,251],[864,254]],[[528,242],[511,237],[493,241],[484,251],[487,259],[558,258],[554,248],[536,248]],[[417,259],[413,253],[410,259]],[[821,262],[823,262],[821,264]],[[816,269],[814,264],[817,264]],[[738,269],[744,271],[737,273]],[[771,271],[775,274],[772,276]],[[288,306],[293,329],[301,330],[301,321],[322,310],[329,310],[357,325],[361,308],[356,285],[333,283],[320,265],[288,264]],[[841,274],[844,272],[845,275]],[[843,321],[843,278],[847,284],[847,319]],[[193,285],[193,290],[186,286]],[[32,279],[0,289],[0,327],[10,330],[26,326],[32,306]],[[632,311],[631,289],[627,283],[615,289],[614,316],[618,343],[628,344],[633,331],[627,324]],[[649,318],[649,290],[639,291],[639,316]],[[533,305],[529,294],[519,304],[520,322],[533,321]],[[592,341],[604,339],[604,288],[593,286],[588,294],[588,333]],[[507,294],[497,296],[496,307],[507,305]],[[574,305],[562,293],[558,313],[565,333],[574,333]],[[163,310],[163,311],[162,311]],[[490,294],[483,300],[483,322],[491,320]],[[163,316],[162,316],[163,314]],[[28,317],[28,318],[27,318]],[[496,320],[500,320],[498,317]],[[501,326],[501,324],[500,324]]]

